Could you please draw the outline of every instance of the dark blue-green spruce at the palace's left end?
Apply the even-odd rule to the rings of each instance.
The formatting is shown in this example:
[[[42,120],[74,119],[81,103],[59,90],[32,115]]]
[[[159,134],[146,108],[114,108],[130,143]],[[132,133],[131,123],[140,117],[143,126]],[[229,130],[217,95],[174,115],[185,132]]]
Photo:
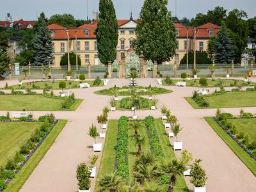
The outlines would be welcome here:
[[[47,28],[44,13],[41,13],[36,25],[36,35],[33,38],[35,65],[52,64],[53,44],[51,31]]]

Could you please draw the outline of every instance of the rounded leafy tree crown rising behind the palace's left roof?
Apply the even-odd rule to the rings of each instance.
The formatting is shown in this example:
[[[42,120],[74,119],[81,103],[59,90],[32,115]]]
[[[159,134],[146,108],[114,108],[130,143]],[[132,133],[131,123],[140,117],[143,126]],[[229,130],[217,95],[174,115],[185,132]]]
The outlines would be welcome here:
[[[76,19],[73,15],[64,13],[64,14],[56,14],[52,15],[49,19],[49,24],[58,24],[60,26],[64,26],[66,28],[75,28],[76,27]]]

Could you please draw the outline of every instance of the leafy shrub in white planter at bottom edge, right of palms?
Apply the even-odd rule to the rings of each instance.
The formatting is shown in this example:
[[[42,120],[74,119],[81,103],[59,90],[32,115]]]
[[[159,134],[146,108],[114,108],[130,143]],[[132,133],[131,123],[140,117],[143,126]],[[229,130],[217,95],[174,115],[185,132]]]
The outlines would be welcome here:
[[[205,170],[200,165],[201,159],[196,159],[195,163],[191,164],[190,182],[194,185],[195,192],[205,192],[205,182],[208,179]]]

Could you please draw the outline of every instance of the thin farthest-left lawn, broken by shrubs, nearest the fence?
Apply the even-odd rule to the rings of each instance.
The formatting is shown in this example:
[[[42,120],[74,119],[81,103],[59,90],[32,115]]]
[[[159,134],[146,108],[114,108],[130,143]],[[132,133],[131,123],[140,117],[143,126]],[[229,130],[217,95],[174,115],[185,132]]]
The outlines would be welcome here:
[[[38,82],[35,82],[34,84],[35,84],[35,86],[39,86],[40,88],[45,88],[45,85],[47,84],[47,86],[52,87],[51,89],[59,90],[59,82],[60,81],[55,81],[54,83],[52,83],[52,81],[38,81]],[[65,81],[65,82],[66,82],[66,89],[79,88],[79,84],[80,84],[79,81]],[[88,83],[88,84],[90,84],[90,86],[93,86],[93,81],[83,81],[83,83]],[[19,84],[15,84],[12,86],[8,86],[8,89],[32,88],[32,84],[33,83],[22,83],[21,86],[19,86]],[[76,87],[74,87],[74,86],[76,86]],[[100,82],[99,86],[103,86],[103,81]]]

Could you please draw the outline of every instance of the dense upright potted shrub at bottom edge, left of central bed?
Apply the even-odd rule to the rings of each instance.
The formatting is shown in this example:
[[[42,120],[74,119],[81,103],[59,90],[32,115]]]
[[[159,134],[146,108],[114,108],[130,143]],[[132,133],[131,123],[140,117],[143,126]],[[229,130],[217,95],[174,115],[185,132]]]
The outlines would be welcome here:
[[[91,180],[90,175],[92,171],[86,166],[86,164],[81,163],[77,166],[76,178],[78,180],[78,189],[79,192],[90,192]]]

